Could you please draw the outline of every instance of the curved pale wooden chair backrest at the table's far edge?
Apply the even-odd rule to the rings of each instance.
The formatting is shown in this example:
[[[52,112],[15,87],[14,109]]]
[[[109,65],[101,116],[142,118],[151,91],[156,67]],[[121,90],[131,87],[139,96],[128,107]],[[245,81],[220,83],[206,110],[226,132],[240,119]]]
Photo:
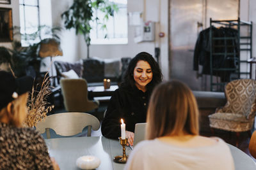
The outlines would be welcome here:
[[[91,136],[92,129],[97,131],[100,122],[88,113],[68,112],[49,115],[36,124],[36,130],[43,134],[45,131],[53,129],[56,134],[61,136],[72,136],[82,132],[86,126],[89,126],[87,136]],[[51,138],[49,132],[47,132],[47,138]]]

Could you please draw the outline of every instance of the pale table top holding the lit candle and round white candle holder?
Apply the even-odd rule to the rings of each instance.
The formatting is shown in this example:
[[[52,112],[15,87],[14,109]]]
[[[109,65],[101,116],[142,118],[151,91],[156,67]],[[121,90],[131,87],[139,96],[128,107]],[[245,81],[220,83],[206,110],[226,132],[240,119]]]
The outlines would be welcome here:
[[[98,170],[121,170],[124,164],[113,162],[113,157],[122,155],[122,146],[118,141],[104,137],[77,137],[77,138],[56,138],[45,139],[51,157],[58,162],[61,170],[79,169],[76,167],[76,159],[83,155],[94,155],[99,157],[101,163]],[[255,162],[246,153],[232,145],[230,147],[234,158],[236,170],[256,169]],[[126,153],[131,152],[126,147]]]

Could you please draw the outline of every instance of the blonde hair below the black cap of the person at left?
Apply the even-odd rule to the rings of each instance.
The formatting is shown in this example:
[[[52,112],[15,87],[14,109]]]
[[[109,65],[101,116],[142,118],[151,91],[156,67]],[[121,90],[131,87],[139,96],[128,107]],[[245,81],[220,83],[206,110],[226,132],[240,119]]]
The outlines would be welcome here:
[[[26,118],[26,104],[28,101],[28,93],[22,94],[17,99],[12,101],[10,105],[10,109],[8,106],[3,108],[0,111],[0,120],[3,117],[7,117],[8,123],[14,125],[15,127],[22,126],[24,119]]]

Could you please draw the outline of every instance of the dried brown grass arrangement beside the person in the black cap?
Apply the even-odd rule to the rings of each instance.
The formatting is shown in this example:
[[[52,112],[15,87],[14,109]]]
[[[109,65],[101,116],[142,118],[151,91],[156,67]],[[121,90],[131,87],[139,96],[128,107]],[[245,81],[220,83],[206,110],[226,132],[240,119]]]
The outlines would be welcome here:
[[[47,102],[47,96],[51,94],[51,80],[47,74],[48,73],[46,73],[44,76],[40,90],[36,90],[38,89],[38,84],[36,85],[36,88],[33,85],[32,92],[29,94],[27,117],[24,121],[25,126],[35,127],[35,125],[47,117],[46,114],[54,108],[53,104]]]

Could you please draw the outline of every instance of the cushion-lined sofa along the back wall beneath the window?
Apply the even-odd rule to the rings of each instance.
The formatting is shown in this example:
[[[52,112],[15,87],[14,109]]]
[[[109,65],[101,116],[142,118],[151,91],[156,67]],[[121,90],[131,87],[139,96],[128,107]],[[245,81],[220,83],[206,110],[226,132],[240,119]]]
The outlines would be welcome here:
[[[77,62],[54,61],[57,80],[60,78],[84,78],[88,86],[102,85],[104,78],[110,79],[111,83],[119,83],[124,77],[131,58],[102,59],[90,57]]]

